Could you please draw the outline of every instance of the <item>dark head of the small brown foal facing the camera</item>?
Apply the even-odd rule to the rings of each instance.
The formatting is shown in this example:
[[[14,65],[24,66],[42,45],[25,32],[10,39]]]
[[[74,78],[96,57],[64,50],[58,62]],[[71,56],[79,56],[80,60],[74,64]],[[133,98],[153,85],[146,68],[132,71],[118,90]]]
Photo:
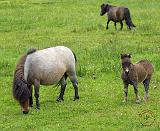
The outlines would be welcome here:
[[[131,54],[121,54],[123,72],[128,75],[132,69]]]

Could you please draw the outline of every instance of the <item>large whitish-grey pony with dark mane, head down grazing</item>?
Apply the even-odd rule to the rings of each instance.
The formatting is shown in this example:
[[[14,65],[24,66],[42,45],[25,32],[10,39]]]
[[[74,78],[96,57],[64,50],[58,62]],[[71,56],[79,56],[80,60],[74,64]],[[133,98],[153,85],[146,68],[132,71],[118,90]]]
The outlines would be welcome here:
[[[78,82],[75,71],[75,54],[67,47],[56,46],[36,51],[30,49],[17,63],[13,80],[13,96],[18,100],[24,114],[32,107],[32,85],[34,85],[36,109],[39,104],[40,85],[60,84],[58,102],[63,100],[66,79],[70,78],[74,90],[74,100],[79,99]]]

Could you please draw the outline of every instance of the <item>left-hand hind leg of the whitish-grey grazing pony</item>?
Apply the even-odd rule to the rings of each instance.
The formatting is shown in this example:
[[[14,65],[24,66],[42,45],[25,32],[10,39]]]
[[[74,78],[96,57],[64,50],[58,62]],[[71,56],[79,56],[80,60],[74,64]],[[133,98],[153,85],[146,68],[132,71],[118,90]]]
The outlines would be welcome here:
[[[60,89],[60,94],[59,94],[59,97],[57,99],[57,102],[63,101],[63,95],[64,95],[64,92],[65,92],[65,89],[66,89],[66,85],[67,85],[66,76],[65,75],[60,80],[60,84],[61,84],[61,89]]]

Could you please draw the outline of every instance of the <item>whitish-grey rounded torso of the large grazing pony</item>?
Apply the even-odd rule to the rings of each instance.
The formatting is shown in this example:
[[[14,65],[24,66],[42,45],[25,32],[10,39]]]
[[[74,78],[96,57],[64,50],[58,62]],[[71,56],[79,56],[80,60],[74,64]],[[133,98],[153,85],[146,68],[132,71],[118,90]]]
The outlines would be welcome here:
[[[26,81],[38,79],[44,85],[56,84],[66,72],[75,72],[75,58],[64,46],[36,51],[27,56],[24,66]]]

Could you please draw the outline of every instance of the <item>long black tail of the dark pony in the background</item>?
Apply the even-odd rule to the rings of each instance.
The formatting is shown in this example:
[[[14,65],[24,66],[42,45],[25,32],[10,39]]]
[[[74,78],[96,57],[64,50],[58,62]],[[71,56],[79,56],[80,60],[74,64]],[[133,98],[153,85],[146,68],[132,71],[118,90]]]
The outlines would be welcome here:
[[[124,9],[124,19],[129,29],[131,29],[131,27],[136,27],[131,20],[130,11],[128,8]]]

